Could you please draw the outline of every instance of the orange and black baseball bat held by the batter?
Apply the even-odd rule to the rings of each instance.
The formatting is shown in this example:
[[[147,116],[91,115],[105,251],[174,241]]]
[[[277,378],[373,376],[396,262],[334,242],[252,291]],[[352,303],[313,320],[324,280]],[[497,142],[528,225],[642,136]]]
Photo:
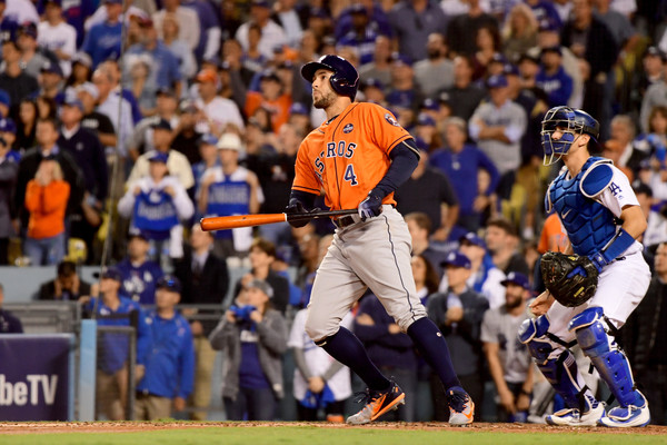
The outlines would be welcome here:
[[[199,221],[201,229],[225,230],[236,229],[239,227],[263,226],[267,224],[283,222],[283,221],[303,221],[313,218],[329,218],[332,216],[357,215],[357,209],[349,210],[320,210],[302,214],[256,214],[256,215],[233,215],[233,216],[212,216],[201,218]]]

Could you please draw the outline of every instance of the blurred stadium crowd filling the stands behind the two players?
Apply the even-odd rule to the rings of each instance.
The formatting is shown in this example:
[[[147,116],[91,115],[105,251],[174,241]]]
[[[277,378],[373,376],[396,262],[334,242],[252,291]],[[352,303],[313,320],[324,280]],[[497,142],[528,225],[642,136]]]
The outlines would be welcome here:
[[[342,419],[349,370],[302,333],[334,225],[197,227],[203,216],[283,210],[299,144],[325,120],[300,67],[337,53],[360,73],[357,100],[390,110],[421,150],[397,208],[459,378],[480,407],[492,382],[491,417],[535,419],[550,395],[538,397],[516,332],[544,289],[540,255],[567,246],[544,211],[560,166],[541,165],[540,122],[550,107],[583,108],[600,121],[598,155],[628,176],[648,219],[654,281],[619,340],[664,424],[665,23],[657,0],[0,0],[0,264],[58,266],[43,299],[146,308],[142,417],[188,397],[206,409],[220,349],[229,418],[280,418],[277,400],[293,397],[301,419],[319,408]],[[101,263],[113,266],[99,285],[78,278],[78,265]],[[236,267],[249,273],[229,283]],[[217,326],[188,324],[178,303],[227,312]],[[0,332],[2,320],[0,310]],[[344,323],[407,393],[397,419],[427,419],[425,385],[429,418],[447,418],[441,388],[375,296]],[[98,372],[103,385],[127,373],[115,365]],[[125,415],[112,408],[108,417]]]

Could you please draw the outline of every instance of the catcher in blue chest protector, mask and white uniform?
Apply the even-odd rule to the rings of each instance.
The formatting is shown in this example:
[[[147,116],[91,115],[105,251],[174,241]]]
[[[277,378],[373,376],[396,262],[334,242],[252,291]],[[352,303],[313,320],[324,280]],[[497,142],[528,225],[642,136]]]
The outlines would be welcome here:
[[[530,309],[519,339],[566,408],[547,423],[566,426],[645,426],[648,404],[633,380],[630,364],[614,340],[650,281],[638,238],[646,218],[627,177],[608,159],[591,157],[599,123],[568,107],[545,116],[541,144],[545,165],[563,159],[565,168],[549,185],[547,211],[556,211],[570,240],[568,256],[545,255],[547,290]],[[571,255],[576,254],[576,255]],[[569,347],[578,343],[620,406],[605,412],[579,374]]]

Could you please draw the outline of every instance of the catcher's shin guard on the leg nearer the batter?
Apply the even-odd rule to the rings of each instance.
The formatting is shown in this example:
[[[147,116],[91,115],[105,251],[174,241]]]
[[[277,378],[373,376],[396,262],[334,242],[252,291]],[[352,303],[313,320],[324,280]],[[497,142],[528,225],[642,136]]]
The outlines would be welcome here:
[[[555,340],[547,336],[548,329],[549,320],[544,315],[536,319],[527,319],[519,328],[519,342],[528,346],[537,367],[565,399],[565,404],[569,408],[587,412],[588,402],[584,397],[587,387],[578,383],[579,370],[575,356],[569,349],[564,349],[556,358],[549,358],[556,348]]]

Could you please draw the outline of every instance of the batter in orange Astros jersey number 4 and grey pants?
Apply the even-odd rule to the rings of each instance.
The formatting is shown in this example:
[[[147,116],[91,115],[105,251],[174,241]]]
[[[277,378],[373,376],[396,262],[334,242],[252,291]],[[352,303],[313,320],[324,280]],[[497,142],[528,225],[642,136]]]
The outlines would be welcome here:
[[[347,423],[372,422],[405,403],[405,393],[378,370],[361,342],[340,326],[370,287],[440,377],[449,423],[468,425],[475,404],[460,386],[442,334],[417,297],[410,234],[394,207],[394,191],[419,160],[415,141],[382,107],[354,102],[359,76],[347,60],[323,56],[306,63],[301,76],[312,82],[313,105],[327,112],[327,121],[299,147],[286,211],[310,210],[320,189],[331,209],[358,209],[358,215],[335,220],[338,228],[317,271],[306,320],[310,338],[368,385],[364,408]]]

